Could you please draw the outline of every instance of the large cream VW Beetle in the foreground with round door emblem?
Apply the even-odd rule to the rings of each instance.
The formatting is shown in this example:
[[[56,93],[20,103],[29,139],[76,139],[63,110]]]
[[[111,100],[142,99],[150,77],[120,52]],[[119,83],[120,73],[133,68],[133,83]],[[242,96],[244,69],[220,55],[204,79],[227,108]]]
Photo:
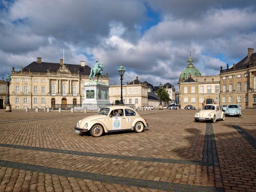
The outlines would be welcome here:
[[[86,117],[77,122],[74,132],[90,131],[93,137],[99,137],[103,132],[134,130],[142,132],[148,127],[146,119],[127,106],[108,106],[102,108],[98,115]]]

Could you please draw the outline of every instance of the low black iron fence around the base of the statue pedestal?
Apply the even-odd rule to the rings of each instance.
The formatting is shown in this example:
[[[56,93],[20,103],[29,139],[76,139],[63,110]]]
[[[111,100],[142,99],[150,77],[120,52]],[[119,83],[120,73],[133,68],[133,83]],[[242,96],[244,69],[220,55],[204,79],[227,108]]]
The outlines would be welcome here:
[[[95,111],[98,110],[98,108],[103,108],[107,106],[112,106],[112,105],[118,105],[118,104],[92,104],[92,103],[87,103],[87,104],[53,104],[51,106],[51,110],[58,110],[61,108],[62,110],[70,110],[72,107],[74,110],[83,110],[86,108],[87,110]],[[124,104],[125,106],[134,108],[134,104]]]

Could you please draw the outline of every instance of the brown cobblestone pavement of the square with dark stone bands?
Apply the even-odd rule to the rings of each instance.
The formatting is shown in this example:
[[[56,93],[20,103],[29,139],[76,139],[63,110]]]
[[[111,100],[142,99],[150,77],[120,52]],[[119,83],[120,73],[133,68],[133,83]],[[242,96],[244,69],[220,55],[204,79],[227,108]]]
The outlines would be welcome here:
[[[142,111],[144,132],[94,138],[73,130],[96,112],[0,110],[0,192],[256,192],[256,110],[214,124],[196,111]]]

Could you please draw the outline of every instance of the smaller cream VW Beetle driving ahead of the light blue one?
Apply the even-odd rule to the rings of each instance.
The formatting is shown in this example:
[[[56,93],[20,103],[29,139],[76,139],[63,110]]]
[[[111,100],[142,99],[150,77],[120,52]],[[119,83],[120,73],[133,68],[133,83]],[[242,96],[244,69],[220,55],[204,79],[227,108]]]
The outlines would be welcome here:
[[[215,123],[216,120],[220,119],[224,121],[225,114],[220,106],[216,104],[207,104],[202,106],[202,110],[195,114],[194,119],[196,122],[199,122],[199,120],[211,120]]]

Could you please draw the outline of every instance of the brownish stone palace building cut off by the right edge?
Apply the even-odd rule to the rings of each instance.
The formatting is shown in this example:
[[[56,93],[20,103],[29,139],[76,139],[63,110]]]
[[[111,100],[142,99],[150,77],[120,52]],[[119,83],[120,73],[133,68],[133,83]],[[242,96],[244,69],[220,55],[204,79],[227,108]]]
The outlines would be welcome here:
[[[220,68],[220,104],[236,103],[241,108],[256,108],[256,53],[248,48],[247,56],[231,68]]]

